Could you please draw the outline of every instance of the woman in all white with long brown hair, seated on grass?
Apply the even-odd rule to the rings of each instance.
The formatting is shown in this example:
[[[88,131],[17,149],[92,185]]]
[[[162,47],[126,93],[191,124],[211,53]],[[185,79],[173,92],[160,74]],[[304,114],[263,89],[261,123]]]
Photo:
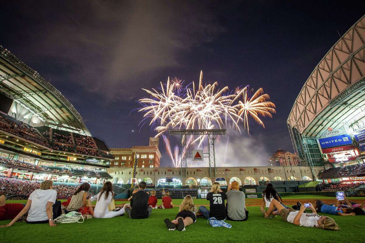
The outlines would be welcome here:
[[[118,211],[109,211],[108,205],[113,200],[114,193],[112,183],[107,181],[104,183],[103,188],[97,195],[92,196],[89,199],[90,214],[95,218],[112,218],[115,216],[122,215],[125,211],[124,208],[119,208]],[[91,202],[96,200],[95,209],[92,208]]]

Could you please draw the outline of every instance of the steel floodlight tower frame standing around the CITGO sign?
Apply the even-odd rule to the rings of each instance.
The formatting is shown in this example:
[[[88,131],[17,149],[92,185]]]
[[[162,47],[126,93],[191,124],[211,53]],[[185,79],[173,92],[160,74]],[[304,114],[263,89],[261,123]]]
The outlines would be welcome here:
[[[186,177],[187,156],[186,136],[198,135],[208,136],[208,158],[209,158],[209,175],[215,177],[215,153],[214,153],[214,139],[216,135],[225,135],[226,129],[172,129],[169,130],[171,135],[181,135],[181,177]]]

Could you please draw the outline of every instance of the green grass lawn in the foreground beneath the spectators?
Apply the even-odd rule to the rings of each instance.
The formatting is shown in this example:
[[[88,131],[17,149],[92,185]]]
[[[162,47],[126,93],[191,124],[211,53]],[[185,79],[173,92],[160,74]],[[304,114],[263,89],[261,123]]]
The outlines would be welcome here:
[[[176,205],[178,200],[174,200]],[[194,200],[199,204],[198,201]],[[206,200],[204,200],[206,201]],[[180,202],[180,200],[179,200]],[[325,231],[285,223],[281,217],[265,219],[258,207],[248,207],[246,222],[230,222],[231,229],[212,228],[207,220],[198,218],[186,231],[169,231],[163,220],[174,219],[178,207],[153,209],[148,219],[129,219],[127,215],[111,219],[89,219],[84,223],[30,225],[15,223],[9,228],[0,228],[0,242],[52,242],[52,243],[104,243],[104,242],[363,242],[365,216],[332,216],[341,231]],[[0,221],[7,224],[10,220]],[[229,221],[228,221],[229,222]]]

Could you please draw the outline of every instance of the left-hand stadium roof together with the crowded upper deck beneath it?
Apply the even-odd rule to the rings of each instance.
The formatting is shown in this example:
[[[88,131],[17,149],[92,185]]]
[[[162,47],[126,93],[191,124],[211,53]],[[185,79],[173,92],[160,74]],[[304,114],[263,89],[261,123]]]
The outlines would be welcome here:
[[[46,161],[109,167],[112,155],[54,86],[0,46],[0,149]]]

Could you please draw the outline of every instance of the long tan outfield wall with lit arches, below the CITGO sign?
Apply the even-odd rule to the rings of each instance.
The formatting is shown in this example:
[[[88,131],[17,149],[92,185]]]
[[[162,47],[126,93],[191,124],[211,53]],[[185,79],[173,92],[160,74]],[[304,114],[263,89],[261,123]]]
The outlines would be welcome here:
[[[146,164],[148,166],[148,164]],[[269,168],[272,172],[269,172]],[[137,168],[137,180],[150,179],[152,184],[156,185],[158,180],[164,178],[174,178],[181,180],[185,185],[187,180],[192,180],[198,186],[202,179],[207,179],[210,183],[217,178],[223,178],[226,184],[234,179],[240,185],[258,185],[259,181],[277,181],[284,184],[284,181],[296,184],[296,181],[316,180],[320,172],[324,170],[323,166],[256,166],[256,167],[217,167],[215,177],[209,175],[208,167],[190,167],[187,168],[187,176],[181,177],[180,168]],[[131,183],[133,168],[108,168],[107,172],[113,177],[113,183],[128,184]],[[304,179],[305,178],[305,179]],[[246,182],[245,182],[246,181]],[[308,181],[308,180],[307,180]]]

